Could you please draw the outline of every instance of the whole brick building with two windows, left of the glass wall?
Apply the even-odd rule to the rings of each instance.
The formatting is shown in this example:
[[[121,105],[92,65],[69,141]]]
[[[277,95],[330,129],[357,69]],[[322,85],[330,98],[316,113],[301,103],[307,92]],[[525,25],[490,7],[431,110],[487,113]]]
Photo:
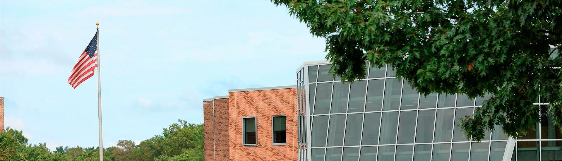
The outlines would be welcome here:
[[[205,160],[297,160],[296,86],[203,99]]]

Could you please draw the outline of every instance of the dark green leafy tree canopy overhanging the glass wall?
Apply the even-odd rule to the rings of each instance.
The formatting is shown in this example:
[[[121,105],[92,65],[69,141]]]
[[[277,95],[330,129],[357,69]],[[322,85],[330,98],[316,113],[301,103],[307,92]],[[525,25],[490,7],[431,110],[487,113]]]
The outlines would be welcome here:
[[[326,38],[330,71],[342,80],[365,78],[368,61],[389,64],[426,96],[490,93],[461,122],[475,140],[496,124],[524,135],[540,120],[539,96],[562,100],[551,50],[562,43],[562,1],[272,1]],[[560,126],[560,105],[549,113]]]

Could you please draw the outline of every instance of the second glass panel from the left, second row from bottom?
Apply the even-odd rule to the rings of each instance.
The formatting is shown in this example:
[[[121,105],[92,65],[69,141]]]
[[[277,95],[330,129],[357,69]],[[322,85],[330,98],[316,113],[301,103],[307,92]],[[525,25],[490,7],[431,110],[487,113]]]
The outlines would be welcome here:
[[[328,128],[328,144],[326,146],[342,146],[343,126],[346,123],[346,115],[330,115],[330,126]]]

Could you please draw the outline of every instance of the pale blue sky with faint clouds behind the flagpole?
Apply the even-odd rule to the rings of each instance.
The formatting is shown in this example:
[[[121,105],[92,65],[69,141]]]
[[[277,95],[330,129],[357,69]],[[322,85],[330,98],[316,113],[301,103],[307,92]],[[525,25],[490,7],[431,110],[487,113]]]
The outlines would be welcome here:
[[[202,99],[229,89],[294,85],[298,66],[326,55],[323,38],[266,0],[1,1],[4,124],[30,144],[98,146],[96,75],[66,82],[96,21],[104,147],[202,123]]]

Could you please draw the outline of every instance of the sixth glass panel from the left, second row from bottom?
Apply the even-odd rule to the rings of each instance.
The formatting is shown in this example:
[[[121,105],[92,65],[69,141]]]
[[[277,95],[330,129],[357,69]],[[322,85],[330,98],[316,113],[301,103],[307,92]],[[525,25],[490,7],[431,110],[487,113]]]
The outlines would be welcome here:
[[[401,111],[397,144],[414,143],[417,111]]]

